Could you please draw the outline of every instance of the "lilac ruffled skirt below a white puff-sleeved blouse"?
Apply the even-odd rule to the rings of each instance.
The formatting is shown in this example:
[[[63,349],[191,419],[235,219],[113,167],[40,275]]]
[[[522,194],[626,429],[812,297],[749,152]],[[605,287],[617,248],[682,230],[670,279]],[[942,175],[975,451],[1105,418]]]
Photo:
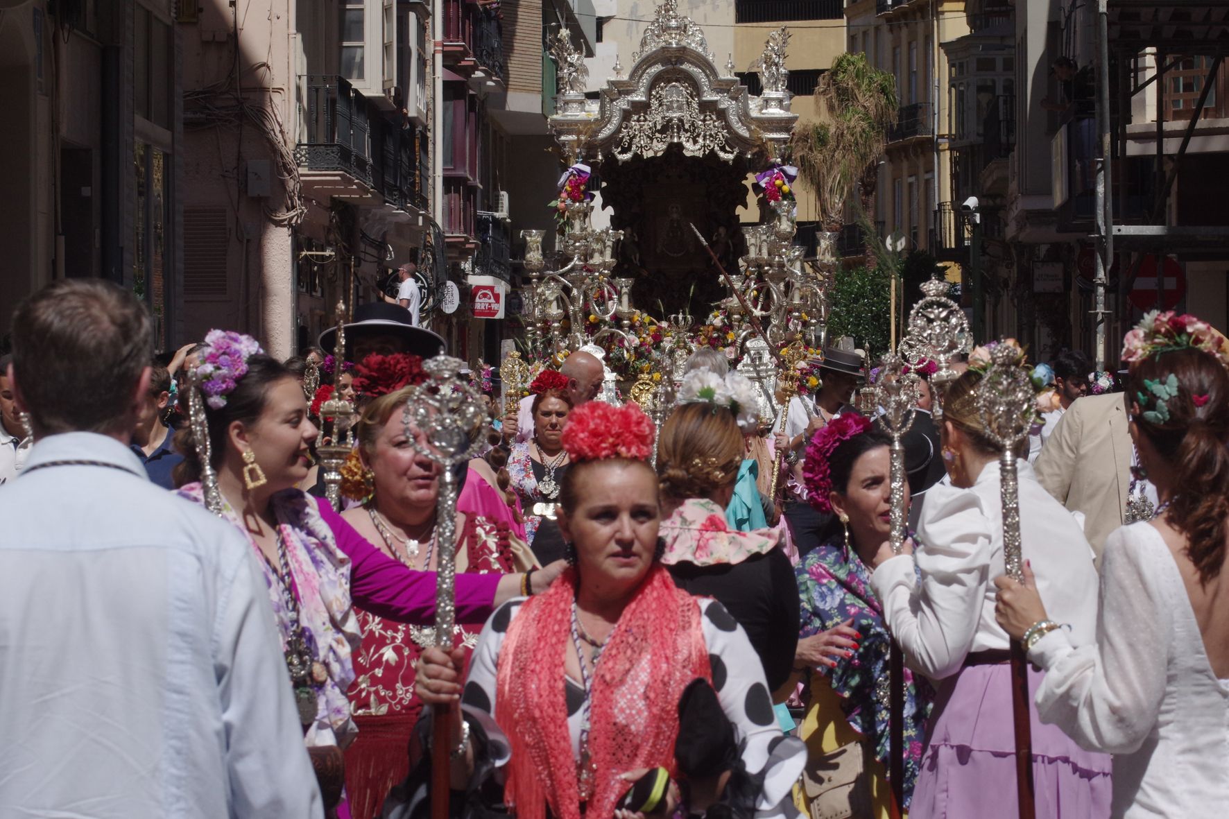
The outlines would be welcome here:
[[[1029,667],[1029,701],[1043,671]],[[1110,815],[1110,755],[1075,744],[1056,726],[1032,721],[1032,782],[1037,819]],[[939,684],[927,727],[909,819],[1014,819],[1015,729],[1011,667],[972,665]]]

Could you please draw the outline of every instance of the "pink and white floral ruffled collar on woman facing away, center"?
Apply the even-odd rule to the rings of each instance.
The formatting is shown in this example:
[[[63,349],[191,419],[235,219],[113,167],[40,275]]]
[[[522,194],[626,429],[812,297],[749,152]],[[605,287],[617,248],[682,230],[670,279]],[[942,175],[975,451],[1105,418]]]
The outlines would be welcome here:
[[[730,566],[748,557],[763,555],[777,546],[780,535],[772,529],[735,531],[725,519],[725,510],[708,498],[688,498],[673,514],[661,521],[661,539],[666,566]]]

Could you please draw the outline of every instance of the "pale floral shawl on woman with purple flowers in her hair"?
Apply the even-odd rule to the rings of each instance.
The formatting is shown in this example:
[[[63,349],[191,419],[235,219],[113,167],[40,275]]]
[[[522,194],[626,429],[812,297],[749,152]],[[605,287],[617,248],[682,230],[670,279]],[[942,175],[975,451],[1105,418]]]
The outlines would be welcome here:
[[[179,489],[179,494],[204,505],[199,483],[189,483]],[[285,649],[290,615],[281,598],[281,587],[256,541],[251,540],[238,513],[225,498],[222,503],[222,516],[252,544]],[[286,545],[286,563],[294,578],[299,621],[306,632],[308,651],[328,669],[328,681],[316,694],[316,722],[308,728],[305,742],[308,746],[344,748],[358,732],[350,718],[350,701],[345,692],[354,681],[351,654],[363,641],[359,620],[350,604],[350,558],[337,547],[333,531],[321,519],[316,501],[307,493],[299,489],[278,492],[270,499],[270,507]]]

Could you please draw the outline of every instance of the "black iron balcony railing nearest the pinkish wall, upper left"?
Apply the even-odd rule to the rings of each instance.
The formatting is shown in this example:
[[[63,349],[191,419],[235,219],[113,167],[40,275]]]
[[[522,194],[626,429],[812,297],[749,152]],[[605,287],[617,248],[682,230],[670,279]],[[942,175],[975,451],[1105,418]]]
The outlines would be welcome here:
[[[295,162],[312,171],[338,171],[372,184],[367,100],[340,76],[305,80],[305,116]]]

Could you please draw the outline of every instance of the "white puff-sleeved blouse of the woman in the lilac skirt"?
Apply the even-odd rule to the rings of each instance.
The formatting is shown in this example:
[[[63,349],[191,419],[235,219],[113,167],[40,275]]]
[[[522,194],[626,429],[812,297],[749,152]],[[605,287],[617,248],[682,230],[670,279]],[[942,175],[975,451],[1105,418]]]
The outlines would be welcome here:
[[[1037,483],[1029,462],[1018,460],[1016,470],[1021,551],[1037,590],[1051,619],[1070,627],[1072,642],[1089,643],[1096,626],[1093,550],[1075,518]],[[871,574],[906,662],[933,680],[957,673],[970,652],[1009,646],[994,619],[994,578],[1007,571],[999,486],[999,464],[992,461],[967,489],[932,487],[918,525],[921,548],[912,558],[884,561]]]

